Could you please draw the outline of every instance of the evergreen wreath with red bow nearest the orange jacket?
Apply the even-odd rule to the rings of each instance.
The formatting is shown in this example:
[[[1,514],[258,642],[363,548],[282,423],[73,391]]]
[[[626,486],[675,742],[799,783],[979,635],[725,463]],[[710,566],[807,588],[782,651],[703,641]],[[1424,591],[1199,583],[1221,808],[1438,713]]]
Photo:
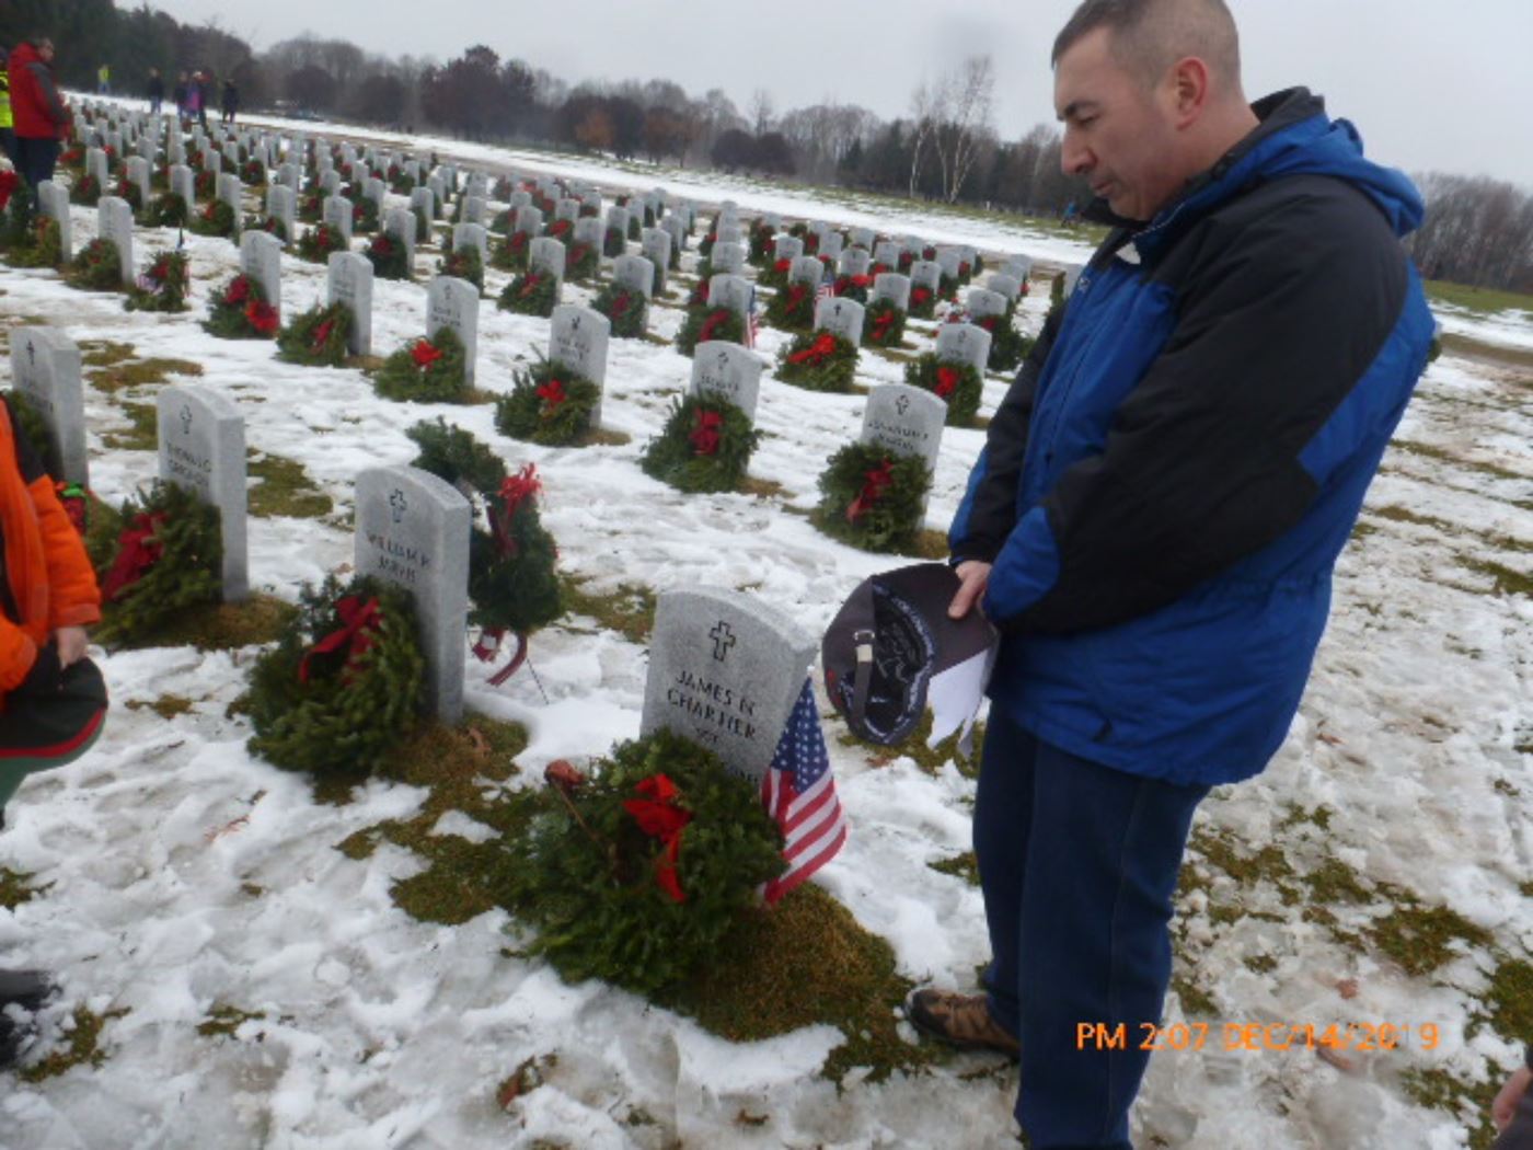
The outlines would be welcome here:
[[[136,642],[187,607],[222,600],[218,508],[155,480],[123,504],[123,523],[112,563],[98,572],[104,612],[95,635],[103,644]]]

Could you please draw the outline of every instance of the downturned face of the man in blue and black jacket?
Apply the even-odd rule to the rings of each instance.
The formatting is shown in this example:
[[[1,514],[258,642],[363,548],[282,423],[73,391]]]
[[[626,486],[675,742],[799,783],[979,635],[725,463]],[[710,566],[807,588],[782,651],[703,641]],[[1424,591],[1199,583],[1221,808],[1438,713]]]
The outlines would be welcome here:
[[[1055,69],[1055,110],[1064,121],[1061,166],[1127,219],[1150,219],[1191,173],[1177,163],[1168,81],[1147,87],[1111,51],[1111,31],[1076,40]]]

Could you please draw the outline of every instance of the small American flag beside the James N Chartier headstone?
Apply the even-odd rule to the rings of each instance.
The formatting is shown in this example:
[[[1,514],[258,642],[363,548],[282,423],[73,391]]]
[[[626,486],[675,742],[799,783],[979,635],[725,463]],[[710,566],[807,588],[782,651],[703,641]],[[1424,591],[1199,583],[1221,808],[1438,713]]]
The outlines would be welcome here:
[[[762,803],[782,828],[782,856],[788,860],[788,869],[766,883],[771,905],[834,859],[846,842],[846,814],[835,797],[820,711],[808,679],[762,779]]]

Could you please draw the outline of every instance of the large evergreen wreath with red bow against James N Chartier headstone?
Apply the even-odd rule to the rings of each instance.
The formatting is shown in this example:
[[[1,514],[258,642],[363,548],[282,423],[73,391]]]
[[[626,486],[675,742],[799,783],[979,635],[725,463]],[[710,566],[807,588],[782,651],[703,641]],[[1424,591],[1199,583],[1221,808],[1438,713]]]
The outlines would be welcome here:
[[[645,995],[684,983],[717,961],[785,866],[759,788],[668,730],[527,800],[504,895],[538,928],[532,954],[569,981]]]

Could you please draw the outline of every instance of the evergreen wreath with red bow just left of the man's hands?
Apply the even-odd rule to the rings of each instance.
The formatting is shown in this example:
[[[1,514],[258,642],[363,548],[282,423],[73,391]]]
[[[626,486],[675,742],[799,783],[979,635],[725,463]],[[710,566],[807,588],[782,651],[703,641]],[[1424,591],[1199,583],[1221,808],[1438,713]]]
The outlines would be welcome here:
[[[926,460],[878,443],[848,443],[820,475],[820,529],[863,550],[909,550],[921,529]]]

